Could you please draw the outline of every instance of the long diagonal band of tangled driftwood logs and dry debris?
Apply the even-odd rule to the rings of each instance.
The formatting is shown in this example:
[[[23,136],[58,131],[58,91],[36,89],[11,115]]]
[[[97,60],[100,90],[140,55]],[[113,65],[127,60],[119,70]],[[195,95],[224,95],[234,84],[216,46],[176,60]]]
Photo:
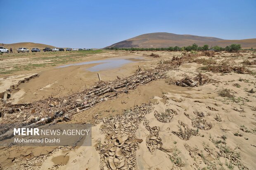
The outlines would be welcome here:
[[[12,105],[0,102],[0,123],[50,123],[52,121],[69,121],[73,114],[94,107],[100,102],[117,98],[120,93],[129,93],[137,86],[166,77],[166,72],[178,68],[182,63],[192,61],[190,57],[182,57],[173,61],[164,61],[156,68],[142,71],[140,68],[134,75],[114,81],[100,81],[91,88],[61,98],[45,98],[28,104]],[[61,114],[60,114],[61,113]],[[47,120],[47,121],[46,121]],[[2,131],[1,134],[5,133]],[[0,135],[1,135],[0,134]]]

